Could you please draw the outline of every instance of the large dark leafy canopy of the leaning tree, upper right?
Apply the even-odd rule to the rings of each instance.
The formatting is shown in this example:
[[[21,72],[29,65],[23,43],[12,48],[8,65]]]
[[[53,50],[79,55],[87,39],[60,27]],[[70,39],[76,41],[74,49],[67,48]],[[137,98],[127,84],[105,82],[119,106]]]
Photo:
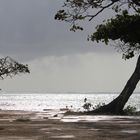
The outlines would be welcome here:
[[[70,23],[70,30],[83,30],[80,21],[91,21],[105,10],[114,17],[97,25],[88,37],[91,41],[117,41],[116,47],[129,59],[140,50],[140,1],[139,0],[66,0],[63,9],[55,15],[56,20]]]

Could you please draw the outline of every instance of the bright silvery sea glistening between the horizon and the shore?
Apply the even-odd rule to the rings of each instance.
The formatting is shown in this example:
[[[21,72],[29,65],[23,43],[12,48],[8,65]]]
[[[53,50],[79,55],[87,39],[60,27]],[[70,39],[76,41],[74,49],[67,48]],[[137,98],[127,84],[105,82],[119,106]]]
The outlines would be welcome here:
[[[24,110],[24,111],[44,111],[47,109],[83,110],[84,99],[93,106],[99,103],[109,103],[116,98],[119,93],[90,92],[55,92],[55,93],[34,93],[34,92],[1,92],[0,109],[2,110]],[[140,110],[140,93],[133,93],[127,105],[135,106]]]

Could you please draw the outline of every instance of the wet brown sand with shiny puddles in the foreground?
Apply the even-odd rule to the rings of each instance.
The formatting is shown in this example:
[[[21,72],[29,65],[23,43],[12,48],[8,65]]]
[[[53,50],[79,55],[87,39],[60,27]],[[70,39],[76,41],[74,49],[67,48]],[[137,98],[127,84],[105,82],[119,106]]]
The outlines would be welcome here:
[[[139,140],[140,117],[0,111],[0,140]]]

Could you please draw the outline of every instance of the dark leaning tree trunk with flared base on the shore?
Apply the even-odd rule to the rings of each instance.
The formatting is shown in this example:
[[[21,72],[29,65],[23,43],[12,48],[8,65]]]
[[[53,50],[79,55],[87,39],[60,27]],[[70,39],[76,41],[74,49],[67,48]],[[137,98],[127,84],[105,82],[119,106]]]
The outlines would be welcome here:
[[[130,98],[130,96],[132,95],[133,91],[135,90],[139,80],[140,80],[140,56],[138,57],[137,65],[132,76],[126,83],[120,95],[109,104],[94,110],[93,113],[122,114],[123,108],[127,103],[128,99]]]

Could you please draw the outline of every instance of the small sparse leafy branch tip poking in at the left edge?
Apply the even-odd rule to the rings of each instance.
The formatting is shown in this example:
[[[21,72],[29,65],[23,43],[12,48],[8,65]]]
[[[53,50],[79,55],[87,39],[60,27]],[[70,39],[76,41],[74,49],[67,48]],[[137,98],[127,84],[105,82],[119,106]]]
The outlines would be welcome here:
[[[13,77],[19,73],[30,73],[28,65],[23,65],[10,57],[0,58],[0,78]]]

